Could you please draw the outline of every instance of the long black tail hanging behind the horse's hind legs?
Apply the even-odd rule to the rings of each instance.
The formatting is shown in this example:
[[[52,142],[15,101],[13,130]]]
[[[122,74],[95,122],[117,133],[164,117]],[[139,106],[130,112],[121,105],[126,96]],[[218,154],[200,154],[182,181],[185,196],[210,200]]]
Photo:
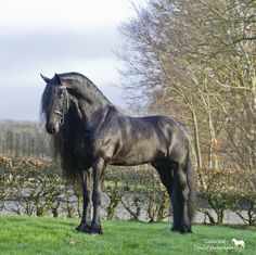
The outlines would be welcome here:
[[[195,215],[196,199],[195,199],[194,173],[191,167],[191,160],[190,160],[189,152],[187,156],[187,180],[188,180],[188,186],[190,189],[189,200],[188,200],[188,216],[189,216],[190,221],[192,222]]]

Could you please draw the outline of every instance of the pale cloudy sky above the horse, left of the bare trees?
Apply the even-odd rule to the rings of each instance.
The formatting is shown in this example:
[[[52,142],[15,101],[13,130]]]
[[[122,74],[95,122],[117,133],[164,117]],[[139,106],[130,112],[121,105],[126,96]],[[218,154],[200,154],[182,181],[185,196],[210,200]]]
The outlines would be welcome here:
[[[132,14],[130,0],[1,1],[0,119],[39,119],[40,73],[81,73],[124,106],[114,51]]]

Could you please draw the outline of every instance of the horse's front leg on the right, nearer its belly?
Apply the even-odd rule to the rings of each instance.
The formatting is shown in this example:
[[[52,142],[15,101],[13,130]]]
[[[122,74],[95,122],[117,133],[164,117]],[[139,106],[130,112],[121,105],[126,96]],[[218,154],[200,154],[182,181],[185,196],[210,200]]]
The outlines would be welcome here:
[[[101,228],[101,186],[104,178],[105,162],[100,158],[92,167],[93,174],[93,191],[92,191],[92,204],[93,204],[93,218],[91,224],[91,233],[102,234]]]

